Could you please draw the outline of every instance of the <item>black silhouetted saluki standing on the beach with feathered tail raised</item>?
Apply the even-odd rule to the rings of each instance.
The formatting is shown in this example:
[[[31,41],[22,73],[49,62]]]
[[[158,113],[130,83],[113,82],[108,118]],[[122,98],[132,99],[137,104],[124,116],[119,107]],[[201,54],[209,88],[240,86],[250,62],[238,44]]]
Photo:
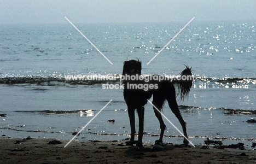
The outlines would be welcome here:
[[[181,100],[189,95],[190,88],[192,86],[193,79],[191,68],[186,66],[184,71],[181,72],[178,78],[163,77],[161,75],[151,75],[149,77],[142,77],[141,75],[141,62],[139,60],[130,60],[124,62],[123,68],[123,84],[124,84],[124,99],[127,104],[128,114],[131,126],[131,139],[126,145],[133,145],[135,138],[135,110],[137,109],[138,120],[139,120],[139,131],[138,131],[138,142],[137,147],[142,147],[142,137],[143,137],[143,126],[144,126],[144,106],[148,102],[148,99],[153,95],[153,104],[159,110],[164,106],[164,102],[167,100],[169,107],[171,108],[174,115],[179,120],[183,134],[188,138],[186,123],[184,122],[181,112],[179,111],[178,104],[176,101],[176,91],[174,85],[177,85],[178,93]],[[156,144],[162,143],[162,138],[164,136],[165,124],[162,120],[161,113],[153,107],[155,116],[158,118],[160,123],[160,137],[156,140]],[[187,139],[183,140],[185,145],[188,145],[189,141]]]

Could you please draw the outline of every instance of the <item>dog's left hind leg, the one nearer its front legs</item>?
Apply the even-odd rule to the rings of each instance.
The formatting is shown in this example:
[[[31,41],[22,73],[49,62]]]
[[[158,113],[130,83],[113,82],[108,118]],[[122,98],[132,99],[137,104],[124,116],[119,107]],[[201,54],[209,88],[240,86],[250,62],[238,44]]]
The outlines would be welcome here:
[[[154,106],[156,108],[158,108],[158,110],[161,111],[162,104],[164,104],[164,98],[161,98],[161,99],[155,99],[154,98],[152,103],[154,104]],[[158,121],[159,121],[159,124],[160,124],[160,128],[161,128],[159,140],[155,140],[155,144],[161,144],[162,143],[162,137],[164,136],[164,132],[165,132],[166,126],[165,126],[164,121],[162,120],[161,113],[159,113],[159,111],[157,109],[155,109],[155,107],[153,107],[153,109],[154,109],[156,118],[158,118]]]

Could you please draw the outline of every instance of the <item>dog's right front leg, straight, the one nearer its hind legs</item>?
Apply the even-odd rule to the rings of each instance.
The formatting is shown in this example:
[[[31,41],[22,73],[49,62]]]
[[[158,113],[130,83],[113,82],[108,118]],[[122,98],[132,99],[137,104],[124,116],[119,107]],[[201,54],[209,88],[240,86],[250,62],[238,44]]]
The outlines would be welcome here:
[[[142,137],[143,137],[143,130],[144,130],[144,107],[137,108],[138,119],[139,119],[139,131],[138,131],[138,143],[136,144],[137,147],[143,147],[142,144]]]

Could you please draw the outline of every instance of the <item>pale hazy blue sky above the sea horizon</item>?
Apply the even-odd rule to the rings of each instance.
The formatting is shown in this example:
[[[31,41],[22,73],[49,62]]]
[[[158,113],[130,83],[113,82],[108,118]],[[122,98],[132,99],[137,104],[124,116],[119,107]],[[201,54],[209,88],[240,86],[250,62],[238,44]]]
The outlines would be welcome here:
[[[4,1],[0,24],[17,23],[256,21],[256,1]]]

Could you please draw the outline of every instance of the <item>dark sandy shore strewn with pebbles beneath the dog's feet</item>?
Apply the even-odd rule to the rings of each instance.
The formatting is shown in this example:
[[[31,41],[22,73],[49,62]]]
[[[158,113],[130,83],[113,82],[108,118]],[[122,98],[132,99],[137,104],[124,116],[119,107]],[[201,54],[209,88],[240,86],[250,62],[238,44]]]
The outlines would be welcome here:
[[[255,149],[175,147],[173,144],[146,144],[143,149],[126,146],[120,141],[12,139],[1,137],[0,163],[256,163]],[[159,149],[165,150],[159,150]]]

